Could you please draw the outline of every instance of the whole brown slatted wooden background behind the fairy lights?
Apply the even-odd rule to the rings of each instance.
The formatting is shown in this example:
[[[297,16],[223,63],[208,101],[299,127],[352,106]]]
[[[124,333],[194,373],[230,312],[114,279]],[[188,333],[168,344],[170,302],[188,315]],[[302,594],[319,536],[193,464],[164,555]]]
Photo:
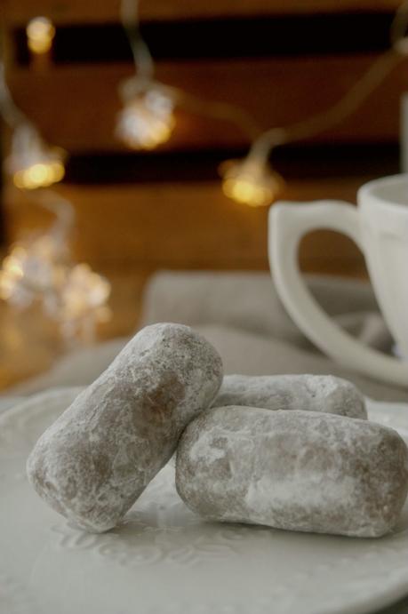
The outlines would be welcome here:
[[[158,79],[204,100],[240,105],[267,129],[315,115],[348,92],[387,49],[398,4],[142,0],[140,12]],[[12,94],[44,137],[71,156],[56,191],[76,210],[76,258],[113,282],[115,317],[104,336],[136,325],[143,283],[157,268],[268,267],[268,211],[233,203],[220,189],[219,163],[249,146],[233,124],[183,108],[172,139],[155,152],[132,153],[115,139],[117,85],[132,74],[118,9],[118,0],[2,2]],[[46,62],[31,61],[27,52],[24,28],[36,15],[57,28]],[[364,181],[397,172],[407,74],[404,61],[346,121],[277,149],[282,196],[355,202]],[[2,209],[3,249],[51,221],[7,180]],[[300,260],[308,271],[365,275],[356,246],[327,231],[305,238]],[[4,381],[14,376],[9,370]],[[1,379],[0,369],[0,386]]]

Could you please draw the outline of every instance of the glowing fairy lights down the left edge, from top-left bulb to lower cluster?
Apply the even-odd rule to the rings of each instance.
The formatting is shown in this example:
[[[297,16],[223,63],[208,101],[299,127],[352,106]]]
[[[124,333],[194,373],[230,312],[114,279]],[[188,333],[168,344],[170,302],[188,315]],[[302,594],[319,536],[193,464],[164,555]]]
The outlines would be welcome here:
[[[55,28],[45,18],[28,24],[28,48],[49,52]],[[45,143],[35,124],[12,99],[0,63],[0,111],[11,130],[4,171],[32,206],[51,212],[44,231],[29,233],[12,245],[0,269],[0,299],[20,310],[39,305],[63,339],[92,342],[96,324],[108,320],[110,283],[85,263],[73,261],[69,237],[75,224],[72,204],[49,189],[65,175],[67,153]]]

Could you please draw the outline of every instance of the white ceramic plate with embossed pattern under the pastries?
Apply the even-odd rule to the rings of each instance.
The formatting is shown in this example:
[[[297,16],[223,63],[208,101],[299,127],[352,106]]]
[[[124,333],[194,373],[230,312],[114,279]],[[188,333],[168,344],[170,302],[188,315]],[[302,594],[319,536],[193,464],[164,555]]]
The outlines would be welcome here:
[[[362,614],[408,593],[408,506],[380,539],[202,522],[170,464],[122,527],[71,528],[31,489],[25,461],[76,393],[0,417],[0,614]],[[369,402],[369,413],[408,440],[408,405]]]

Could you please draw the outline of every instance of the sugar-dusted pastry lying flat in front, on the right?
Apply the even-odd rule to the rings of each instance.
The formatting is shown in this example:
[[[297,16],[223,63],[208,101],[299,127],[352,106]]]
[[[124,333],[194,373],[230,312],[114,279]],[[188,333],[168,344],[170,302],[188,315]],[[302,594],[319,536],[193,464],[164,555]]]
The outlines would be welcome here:
[[[365,420],[220,407],[181,436],[176,486],[209,520],[380,537],[404,505],[408,451],[396,431]]]

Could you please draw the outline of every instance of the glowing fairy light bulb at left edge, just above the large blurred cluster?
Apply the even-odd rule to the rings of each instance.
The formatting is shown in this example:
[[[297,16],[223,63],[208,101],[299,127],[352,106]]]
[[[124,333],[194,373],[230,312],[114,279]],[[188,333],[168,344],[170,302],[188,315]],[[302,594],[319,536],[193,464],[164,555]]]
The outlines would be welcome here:
[[[46,146],[32,124],[20,124],[12,134],[12,153],[5,167],[16,187],[49,187],[63,179],[65,157],[62,149]]]

